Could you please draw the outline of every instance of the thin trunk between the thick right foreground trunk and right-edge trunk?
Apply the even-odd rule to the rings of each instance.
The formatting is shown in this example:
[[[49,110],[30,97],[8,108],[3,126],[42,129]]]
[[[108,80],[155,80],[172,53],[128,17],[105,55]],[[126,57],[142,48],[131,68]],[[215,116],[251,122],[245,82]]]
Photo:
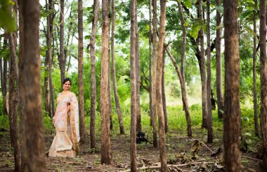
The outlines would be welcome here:
[[[258,0],[254,0],[257,5]],[[258,122],[258,105],[257,105],[257,92],[256,92],[256,10],[253,11],[253,103],[254,103],[254,126],[255,134],[259,136],[259,122]]]

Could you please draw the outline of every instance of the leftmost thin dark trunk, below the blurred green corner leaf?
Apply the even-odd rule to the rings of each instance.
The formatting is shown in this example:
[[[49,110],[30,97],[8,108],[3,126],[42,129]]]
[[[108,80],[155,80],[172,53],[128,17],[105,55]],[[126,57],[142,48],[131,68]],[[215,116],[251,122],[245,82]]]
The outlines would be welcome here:
[[[7,48],[8,41],[7,38],[4,37],[4,48]],[[7,57],[6,57],[7,58]],[[3,85],[1,85],[1,90],[3,94],[3,113],[8,115],[8,107],[7,107],[7,76],[8,76],[8,62],[6,58],[3,59]]]

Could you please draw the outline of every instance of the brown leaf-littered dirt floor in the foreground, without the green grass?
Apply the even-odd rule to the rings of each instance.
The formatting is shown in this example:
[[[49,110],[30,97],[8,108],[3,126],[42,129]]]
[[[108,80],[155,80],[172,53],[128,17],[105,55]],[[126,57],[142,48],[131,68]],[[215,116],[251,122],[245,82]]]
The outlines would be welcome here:
[[[222,131],[219,131],[222,132]],[[221,155],[211,157],[222,146],[222,135],[214,138],[214,143],[207,144],[207,136],[200,128],[193,128],[193,138],[181,133],[169,131],[167,134],[167,162],[169,171],[224,171]],[[149,139],[150,140],[150,139]],[[100,140],[98,148],[90,149],[90,143],[80,145],[80,153],[74,158],[48,157],[48,150],[53,141],[53,134],[45,134],[47,171],[125,171],[130,169],[129,136],[113,134],[111,137],[112,163],[100,164]],[[150,141],[151,142],[151,141]],[[259,144],[258,144],[259,145]],[[256,148],[258,145],[253,145]],[[255,149],[254,149],[255,150]],[[195,155],[194,153],[195,152]],[[137,145],[138,167],[159,166],[159,150],[150,143]],[[245,171],[259,170],[260,161],[256,152],[248,150],[242,154]],[[13,171],[14,160],[8,129],[0,129],[0,171]],[[145,171],[159,171],[159,168]]]

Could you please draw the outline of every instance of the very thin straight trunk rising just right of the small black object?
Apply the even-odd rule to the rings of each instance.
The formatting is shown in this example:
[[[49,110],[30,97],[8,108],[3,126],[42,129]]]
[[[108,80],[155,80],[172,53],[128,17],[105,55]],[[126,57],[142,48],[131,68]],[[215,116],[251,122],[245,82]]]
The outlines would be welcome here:
[[[149,4],[149,115],[150,126],[153,125],[153,113],[152,113],[152,17],[151,17],[151,0],[148,0]],[[154,131],[154,130],[153,130]]]

